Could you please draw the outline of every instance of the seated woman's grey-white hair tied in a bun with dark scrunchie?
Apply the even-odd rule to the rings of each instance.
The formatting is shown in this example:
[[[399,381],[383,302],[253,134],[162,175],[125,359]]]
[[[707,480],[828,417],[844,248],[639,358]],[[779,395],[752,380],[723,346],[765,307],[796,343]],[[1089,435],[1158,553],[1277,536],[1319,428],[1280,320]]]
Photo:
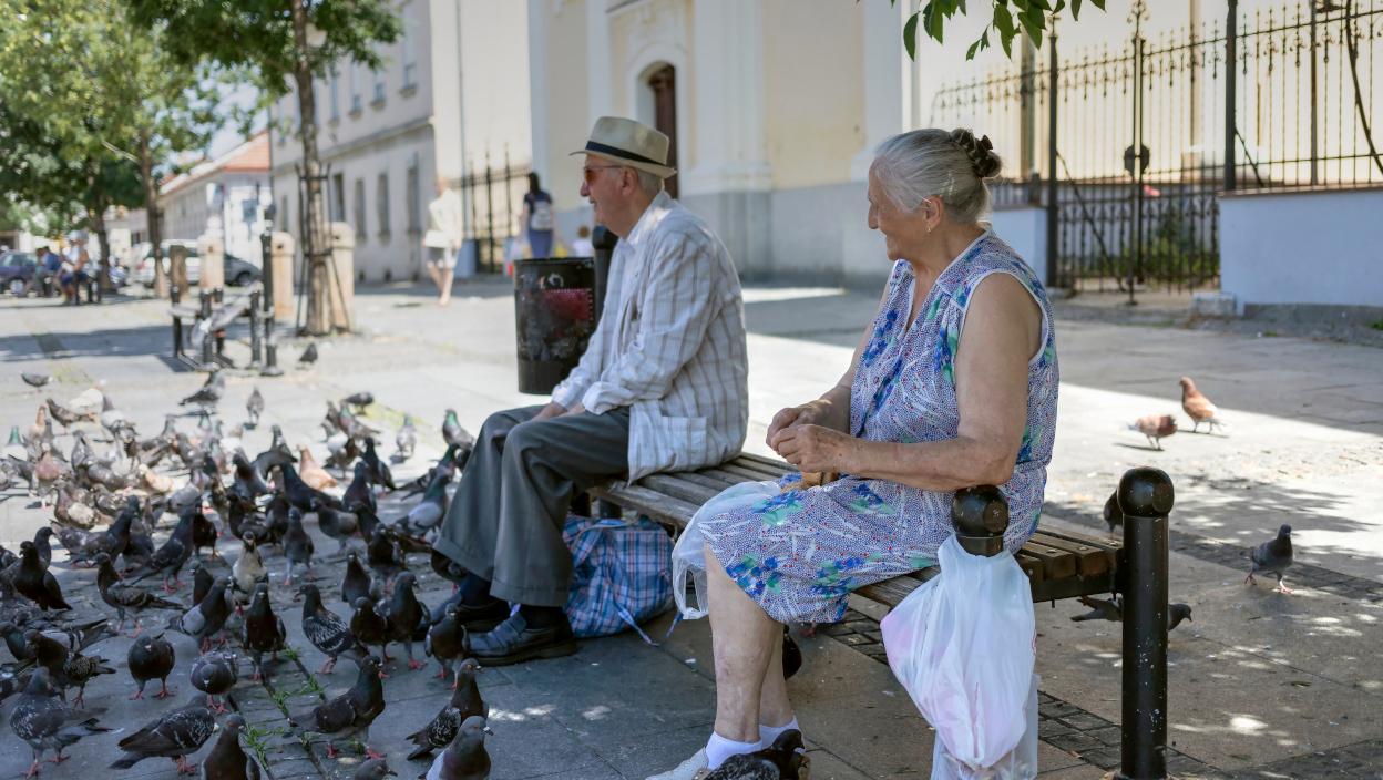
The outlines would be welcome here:
[[[974,224],[989,212],[986,178],[999,176],[1003,160],[989,137],[967,129],[911,130],[888,138],[874,154],[874,174],[895,206],[913,212],[934,195],[952,221]]]

